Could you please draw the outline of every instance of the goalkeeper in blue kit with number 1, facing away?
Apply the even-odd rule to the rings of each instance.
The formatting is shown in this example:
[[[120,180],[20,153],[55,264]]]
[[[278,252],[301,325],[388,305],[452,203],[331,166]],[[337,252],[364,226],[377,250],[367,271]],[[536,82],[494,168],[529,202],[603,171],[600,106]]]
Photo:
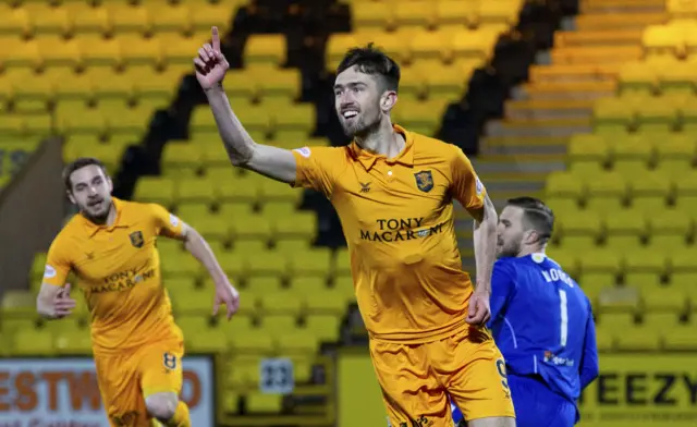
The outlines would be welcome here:
[[[590,302],[545,255],[553,227],[552,211],[531,197],[509,200],[499,218],[489,327],[521,427],[573,426],[576,400],[598,376]]]

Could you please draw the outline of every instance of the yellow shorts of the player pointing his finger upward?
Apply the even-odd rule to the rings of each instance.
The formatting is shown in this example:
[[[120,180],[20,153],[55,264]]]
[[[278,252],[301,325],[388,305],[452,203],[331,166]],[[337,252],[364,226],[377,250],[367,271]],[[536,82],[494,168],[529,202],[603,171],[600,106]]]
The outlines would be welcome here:
[[[486,329],[426,344],[371,340],[370,356],[393,427],[452,427],[449,396],[466,420],[515,417],[503,356]]]

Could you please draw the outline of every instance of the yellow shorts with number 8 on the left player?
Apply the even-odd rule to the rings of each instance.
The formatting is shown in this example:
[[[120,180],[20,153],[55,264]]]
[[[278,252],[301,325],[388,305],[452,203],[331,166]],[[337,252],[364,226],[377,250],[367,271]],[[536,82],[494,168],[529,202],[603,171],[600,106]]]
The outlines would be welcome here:
[[[182,390],[180,340],[161,341],[131,353],[95,356],[101,400],[112,427],[150,427],[145,398]]]

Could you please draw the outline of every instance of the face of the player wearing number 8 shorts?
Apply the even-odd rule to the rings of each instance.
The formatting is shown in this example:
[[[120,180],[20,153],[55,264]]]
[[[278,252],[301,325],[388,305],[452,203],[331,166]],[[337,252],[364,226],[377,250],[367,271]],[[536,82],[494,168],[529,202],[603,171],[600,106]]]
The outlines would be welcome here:
[[[111,210],[111,179],[98,164],[88,164],[70,174],[68,197],[93,222],[103,222]]]

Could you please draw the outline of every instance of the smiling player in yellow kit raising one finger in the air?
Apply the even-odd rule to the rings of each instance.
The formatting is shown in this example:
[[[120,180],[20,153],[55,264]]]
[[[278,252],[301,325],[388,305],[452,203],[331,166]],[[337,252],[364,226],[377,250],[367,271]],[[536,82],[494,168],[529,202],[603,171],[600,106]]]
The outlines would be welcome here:
[[[194,62],[232,163],[320,191],[337,209],[390,423],[450,426],[450,395],[470,426],[514,426],[503,359],[484,327],[496,208],[460,148],[391,122],[398,64],[370,46],[348,51],[334,98],[353,143],[284,150],[255,143],[232,111],[216,28]],[[476,220],[475,289],[462,270],[453,199]]]

